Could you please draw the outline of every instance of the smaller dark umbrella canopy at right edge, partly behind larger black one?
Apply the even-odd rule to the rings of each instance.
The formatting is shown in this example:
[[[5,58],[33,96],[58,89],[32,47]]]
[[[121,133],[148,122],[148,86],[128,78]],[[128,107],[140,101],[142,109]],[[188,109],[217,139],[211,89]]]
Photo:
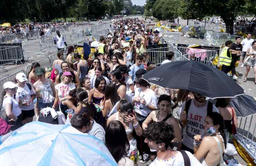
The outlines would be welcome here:
[[[256,101],[252,96],[246,94],[232,98],[230,106],[236,110],[237,117],[247,117],[256,114]]]

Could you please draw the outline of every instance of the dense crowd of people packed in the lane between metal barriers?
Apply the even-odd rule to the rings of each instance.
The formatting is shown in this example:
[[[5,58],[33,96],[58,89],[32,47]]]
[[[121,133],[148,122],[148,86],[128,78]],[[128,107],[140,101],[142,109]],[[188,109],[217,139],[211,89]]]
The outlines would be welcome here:
[[[69,46],[65,61],[57,54],[51,74],[36,62],[28,75],[18,73],[15,82],[4,83],[2,105],[11,130],[35,115],[44,121],[42,110],[49,107],[63,114],[63,122],[102,140],[120,166],[138,160],[151,160],[150,166],[222,163],[229,134],[237,127],[230,99],[213,103],[195,92],[149,84],[143,74],[156,65],[146,46],[159,43],[159,31],[139,19],[122,19],[111,27],[117,30],[100,37],[94,59],[82,58]],[[227,52],[240,54],[235,48]],[[168,52],[162,64],[173,56]],[[177,119],[173,110],[179,107]]]

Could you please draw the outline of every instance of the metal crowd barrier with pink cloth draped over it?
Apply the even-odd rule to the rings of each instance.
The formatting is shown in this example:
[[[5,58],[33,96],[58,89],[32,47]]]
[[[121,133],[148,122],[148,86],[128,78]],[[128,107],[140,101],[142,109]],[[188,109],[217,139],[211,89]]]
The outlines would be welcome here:
[[[178,50],[182,53],[181,61],[198,61],[212,66],[212,60],[216,56],[215,50],[206,49],[194,49],[187,47],[178,47]]]

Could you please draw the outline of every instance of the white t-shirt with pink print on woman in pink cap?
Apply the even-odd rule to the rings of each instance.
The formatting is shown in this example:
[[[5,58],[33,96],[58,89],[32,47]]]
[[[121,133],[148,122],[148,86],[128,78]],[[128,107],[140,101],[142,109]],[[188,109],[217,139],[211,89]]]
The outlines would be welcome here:
[[[75,84],[72,82],[68,84],[61,82],[55,86],[55,89],[58,91],[59,101],[61,101],[71,90],[75,89]]]

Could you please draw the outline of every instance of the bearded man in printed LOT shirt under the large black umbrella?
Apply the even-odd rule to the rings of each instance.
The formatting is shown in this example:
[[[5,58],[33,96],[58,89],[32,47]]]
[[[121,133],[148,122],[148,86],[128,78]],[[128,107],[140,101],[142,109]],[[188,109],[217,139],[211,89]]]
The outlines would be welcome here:
[[[215,105],[205,100],[205,96],[194,92],[194,97],[194,99],[191,99],[182,104],[180,114],[182,127],[185,127],[186,131],[182,140],[181,149],[190,151],[192,154],[194,153],[194,135],[200,134],[204,131],[203,124],[204,118],[206,117],[207,113],[219,113],[219,110],[215,107]],[[186,113],[184,112],[184,110],[186,110]]]

